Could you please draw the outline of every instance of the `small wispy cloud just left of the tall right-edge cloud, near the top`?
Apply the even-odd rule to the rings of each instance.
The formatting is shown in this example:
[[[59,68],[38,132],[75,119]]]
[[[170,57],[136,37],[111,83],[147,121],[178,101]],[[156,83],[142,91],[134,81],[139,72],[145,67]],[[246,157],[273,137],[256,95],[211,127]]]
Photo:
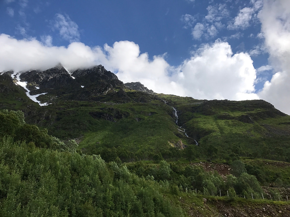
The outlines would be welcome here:
[[[250,26],[250,21],[254,14],[253,8],[243,8],[240,10],[239,14],[234,18],[233,23],[228,25],[228,29],[235,30],[235,29],[246,29]]]

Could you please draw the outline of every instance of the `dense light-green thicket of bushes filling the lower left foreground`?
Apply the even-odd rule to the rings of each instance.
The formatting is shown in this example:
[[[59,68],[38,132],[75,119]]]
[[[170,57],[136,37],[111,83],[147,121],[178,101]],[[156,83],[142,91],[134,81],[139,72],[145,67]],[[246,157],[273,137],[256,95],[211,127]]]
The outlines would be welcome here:
[[[3,111],[0,117],[7,127],[0,137],[0,216],[184,215],[157,183],[100,156],[64,150],[63,142],[26,125],[21,112]],[[18,129],[26,133],[17,137]]]

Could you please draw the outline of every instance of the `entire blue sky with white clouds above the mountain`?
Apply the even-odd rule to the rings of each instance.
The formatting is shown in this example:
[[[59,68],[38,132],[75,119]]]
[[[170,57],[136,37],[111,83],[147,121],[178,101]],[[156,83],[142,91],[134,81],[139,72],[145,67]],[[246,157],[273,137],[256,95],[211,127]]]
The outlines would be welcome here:
[[[1,0],[0,71],[102,64],[156,93],[290,114],[289,0]]]

